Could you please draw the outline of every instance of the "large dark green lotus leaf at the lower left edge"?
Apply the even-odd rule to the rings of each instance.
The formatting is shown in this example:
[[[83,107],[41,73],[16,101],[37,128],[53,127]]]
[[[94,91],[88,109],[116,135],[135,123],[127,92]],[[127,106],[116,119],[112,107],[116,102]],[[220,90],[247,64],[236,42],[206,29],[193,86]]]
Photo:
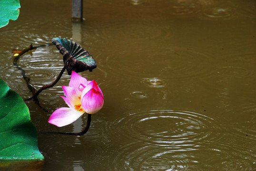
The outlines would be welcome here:
[[[0,160],[43,159],[27,105],[0,79]]]

